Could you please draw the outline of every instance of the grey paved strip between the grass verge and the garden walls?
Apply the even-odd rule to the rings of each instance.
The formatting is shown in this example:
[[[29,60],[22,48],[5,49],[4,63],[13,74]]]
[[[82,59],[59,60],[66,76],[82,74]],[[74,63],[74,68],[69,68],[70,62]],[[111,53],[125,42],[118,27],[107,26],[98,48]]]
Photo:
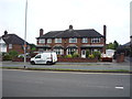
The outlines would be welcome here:
[[[28,68],[58,68],[58,69],[81,69],[81,70],[130,70],[130,61],[125,59],[123,63],[56,63],[55,65],[31,65],[29,62],[2,62],[2,67],[23,67]]]

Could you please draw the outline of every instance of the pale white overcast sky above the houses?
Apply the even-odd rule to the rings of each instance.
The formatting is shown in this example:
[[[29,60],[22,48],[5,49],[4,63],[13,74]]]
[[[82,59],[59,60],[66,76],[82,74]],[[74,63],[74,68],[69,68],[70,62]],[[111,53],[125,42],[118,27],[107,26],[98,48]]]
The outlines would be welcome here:
[[[26,0],[0,0],[0,36],[7,30],[24,38]],[[40,29],[44,33],[95,29],[107,43],[130,41],[131,0],[28,0],[26,41],[36,44]]]

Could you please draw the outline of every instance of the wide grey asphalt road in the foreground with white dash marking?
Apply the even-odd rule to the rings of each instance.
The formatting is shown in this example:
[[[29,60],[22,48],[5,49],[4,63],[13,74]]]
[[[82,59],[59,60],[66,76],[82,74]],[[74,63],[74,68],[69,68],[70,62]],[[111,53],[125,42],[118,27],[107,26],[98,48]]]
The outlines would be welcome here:
[[[3,69],[2,96],[130,97],[130,75]]]

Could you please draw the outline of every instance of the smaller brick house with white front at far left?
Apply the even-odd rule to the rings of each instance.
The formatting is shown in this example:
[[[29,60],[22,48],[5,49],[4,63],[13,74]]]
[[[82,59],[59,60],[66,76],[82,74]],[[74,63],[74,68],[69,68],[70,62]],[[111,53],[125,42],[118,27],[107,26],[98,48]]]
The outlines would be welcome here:
[[[8,34],[4,31],[4,34],[0,36],[0,52],[9,53],[10,51],[16,51],[20,54],[24,53],[24,40],[19,37],[15,34]],[[26,53],[30,52],[30,44],[26,42]]]

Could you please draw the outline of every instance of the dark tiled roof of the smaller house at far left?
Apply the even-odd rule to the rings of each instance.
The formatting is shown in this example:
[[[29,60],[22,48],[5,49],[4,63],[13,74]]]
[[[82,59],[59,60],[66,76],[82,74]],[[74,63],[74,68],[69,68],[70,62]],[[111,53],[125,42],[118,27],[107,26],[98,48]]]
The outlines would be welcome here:
[[[15,34],[6,34],[6,35],[2,35],[2,40],[7,44],[19,44],[19,45],[23,45],[24,44],[24,40],[22,40],[21,37],[19,37]],[[29,44],[29,43],[26,42],[26,44]]]

